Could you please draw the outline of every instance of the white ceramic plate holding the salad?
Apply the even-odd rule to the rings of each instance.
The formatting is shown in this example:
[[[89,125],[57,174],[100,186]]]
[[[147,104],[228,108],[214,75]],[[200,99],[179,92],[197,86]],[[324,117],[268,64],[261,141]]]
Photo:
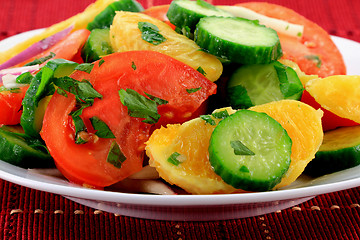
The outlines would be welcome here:
[[[39,30],[36,30],[39,31]],[[23,41],[34,32],[0,42],[0,51]],[[360,44],[333,37],[342,52],[349,75],[360,75]],[[37,174],[0,161],[0,177],[26,187],[60,194],[95,209],[126,216],[158,220],[211,221],[243,218],[282,210],[316,195],[360,186],[360,166],[312,179],[301,176],[278,191],[222,195],[148,195],[99,191],[66,180]]]

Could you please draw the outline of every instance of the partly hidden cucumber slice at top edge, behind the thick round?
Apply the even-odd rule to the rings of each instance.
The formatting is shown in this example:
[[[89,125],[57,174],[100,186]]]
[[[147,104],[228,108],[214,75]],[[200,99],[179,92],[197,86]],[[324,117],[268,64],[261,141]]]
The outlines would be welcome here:
[[[176,27],[180,29],[189,28],[191,32],[194,32],[196,24],[203,17],[232,17],[233,15],[203,0],[175,0],[171,2],[166,16],[168,17],[169,21]]]

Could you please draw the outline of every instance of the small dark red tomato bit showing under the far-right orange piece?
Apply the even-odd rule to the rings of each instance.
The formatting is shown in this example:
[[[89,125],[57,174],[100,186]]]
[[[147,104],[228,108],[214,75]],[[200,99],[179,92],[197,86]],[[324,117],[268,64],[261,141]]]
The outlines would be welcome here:
[[[324,132],[338,128],[338,127],[347,127],[347,126],[358,125],[358,123],[356,123],[350,119],[339,117],[336,114],[322,108],[321,105],[319,103],[317,103],[316,100],[306,90],[303,92],[301,101],[306,104],[309,104],[310,106],[312,106],[315,109],[320,108],[324,112],[324,115],[321,118]]]

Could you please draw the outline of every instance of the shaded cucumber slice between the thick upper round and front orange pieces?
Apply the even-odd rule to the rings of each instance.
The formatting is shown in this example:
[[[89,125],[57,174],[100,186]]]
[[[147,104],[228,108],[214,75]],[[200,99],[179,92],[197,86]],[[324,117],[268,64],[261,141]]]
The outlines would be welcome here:
[[[280,62],[243,65],[227,83],[232,108],[249,108],[282,99],[300,100],[304,87],[291,67]]]

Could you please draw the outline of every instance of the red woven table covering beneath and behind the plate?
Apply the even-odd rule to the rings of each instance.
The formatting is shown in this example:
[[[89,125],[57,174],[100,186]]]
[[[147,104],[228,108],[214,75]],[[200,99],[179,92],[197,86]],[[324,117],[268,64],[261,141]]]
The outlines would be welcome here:
[[[94,0],[3,0],[0,40],[47,27]],[[140,1],[145,8],[169,3]],[[213,0],[214,4],[241,1]],[[332,35],[360,42],[358,0],[271,0]],[[0,179],[0,239],[359,239],[360,188],[317,196],[276,213],[212,222],[137,219],[97,211],[62,196]]]

